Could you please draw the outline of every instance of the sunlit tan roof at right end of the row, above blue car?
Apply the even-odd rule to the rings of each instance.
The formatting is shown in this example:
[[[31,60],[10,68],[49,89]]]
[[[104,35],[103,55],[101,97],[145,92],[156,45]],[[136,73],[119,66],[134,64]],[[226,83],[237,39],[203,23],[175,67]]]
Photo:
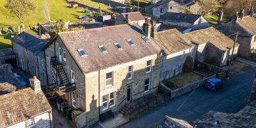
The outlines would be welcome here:
[[[186,33],[184,34],[184,36],[195,44],[204,44],[207,42],[211,42],[213,45],[215,45],[223,51],[232,49],[234,45],[233,40],[231,40],[223,33],[212,27]],[[236,44],[236,47],[238,46],[239,44]]]

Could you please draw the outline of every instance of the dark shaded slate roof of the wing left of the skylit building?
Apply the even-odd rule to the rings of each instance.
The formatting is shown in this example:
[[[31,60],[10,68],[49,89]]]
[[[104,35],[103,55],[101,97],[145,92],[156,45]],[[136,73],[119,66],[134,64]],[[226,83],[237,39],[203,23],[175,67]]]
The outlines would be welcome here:
[[[41,51],[41,49],[47,44],[47,42],[43,42],[35,35],[31,35],[26,32],[22,32],[19,35],[14,36],[11,40],[33,53]]]

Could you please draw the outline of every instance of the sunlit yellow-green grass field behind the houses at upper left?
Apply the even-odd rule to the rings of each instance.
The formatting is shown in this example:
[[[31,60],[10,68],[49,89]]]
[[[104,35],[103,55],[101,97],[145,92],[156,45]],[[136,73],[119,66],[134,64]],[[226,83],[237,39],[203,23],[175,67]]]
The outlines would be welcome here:
[[[100,8],[102,10],[108,10],[109,6],[102,3],[96,3],[91,0],[76,0],[77,3],[84,4],[86,6],[90,6],[92,8]],[[0,28],[6,26],[18,26],[19,20],[16,19],[10,12],[4,8],[4,4],[6,0],[0,0]],[[25,25],[33,25],[38,22],[44,22],[42,12],[42,5],[44,4],[44,0],[36,0],[36,10],[31,13],[25,20]],[[51,20],[66,20],[66,21],[78,21],[77,17],[80,15],[84,15],[84,8],[69,8],[70,4],[68,4],[65,0],[50,0],[50,12],[51,12]],[[4,38],[4,35],[0,36],[0,49],[11,47],[11,41],[8,38]]]

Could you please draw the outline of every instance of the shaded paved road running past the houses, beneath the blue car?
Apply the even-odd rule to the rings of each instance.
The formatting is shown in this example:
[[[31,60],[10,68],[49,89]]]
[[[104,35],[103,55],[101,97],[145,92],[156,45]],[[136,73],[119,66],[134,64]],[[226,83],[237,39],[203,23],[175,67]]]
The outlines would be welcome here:
[[[245,106],[253,82],[253,71],[250,70],[225,81],[225,88],[218,92],[209,92],[205,88],[199,88],[121,127],[157,127],[163,121],[164,115],[193,122],[210,110],[236,113]]]

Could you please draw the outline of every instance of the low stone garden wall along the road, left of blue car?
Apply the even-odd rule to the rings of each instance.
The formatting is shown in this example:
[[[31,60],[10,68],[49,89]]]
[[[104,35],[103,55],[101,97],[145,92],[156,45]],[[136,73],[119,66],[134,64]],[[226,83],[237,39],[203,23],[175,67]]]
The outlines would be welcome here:
[[[212,77],[216,77],[216,75],[213,75],[211,77],[205,77],[204,79],[201,79],[200,81],[196,81],[194,83],[189,83],[189,84],[182,86],[181,88],[178,88],[176,90],[171,90],[170,88],[165,86],[163,83],[160,83],[159,91],[164,92],[164,93],[171,92],[171,99],[173,99],[176,97],[180,97],[181,95],[184,95],[188,92],[191,92],[191,91],[195,90],[196,88],[204,86],[204,83],[207,81],[207,79],[210,79]]]

